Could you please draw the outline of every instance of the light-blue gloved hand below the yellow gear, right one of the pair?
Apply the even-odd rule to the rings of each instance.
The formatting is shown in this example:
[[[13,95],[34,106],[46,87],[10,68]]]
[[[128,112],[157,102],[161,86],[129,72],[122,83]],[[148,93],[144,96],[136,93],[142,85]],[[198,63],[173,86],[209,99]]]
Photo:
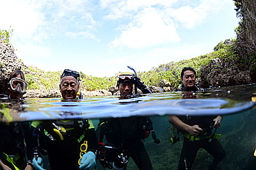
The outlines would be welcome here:
[[[79,166],[79,169],[83,170],[93,170],[96,166],[96,156],[93,152],[87,152],[83,155],[81,160],[81,166]]]

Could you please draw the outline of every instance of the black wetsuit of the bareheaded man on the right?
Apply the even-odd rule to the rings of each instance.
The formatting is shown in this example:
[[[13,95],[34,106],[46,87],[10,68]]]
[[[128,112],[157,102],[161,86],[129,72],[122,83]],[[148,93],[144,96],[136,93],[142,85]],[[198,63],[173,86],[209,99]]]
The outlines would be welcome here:
[[[191,89],[186,89],[186,87],[184,86],[182,87],[179,88],[179,91],[196,92],[200,89],[200,87],[196,85]],[[216,169],[218,163],[225,158],[225,150],[223,149],[220,141],[218,141],[218,139],[215,138],[209,138],[209,136],[212,135],[212,125],[214,124],[213,119],[216,118],[216,116],[181,116],[179,118],[185,124],[191,126],[198,125],[201,129],[203,129],[199,136],[191,136],[187,132],[182,132],[184,134],[184,143],[182,146],[182,152],[180,154],[179,170],[186,168],[191,169],[192,164],[196,157],[196,153],[200,148],[204,148],[204,150],[209,152],[214,157],[214,160],[212,164],[209,166],[209,169]]]

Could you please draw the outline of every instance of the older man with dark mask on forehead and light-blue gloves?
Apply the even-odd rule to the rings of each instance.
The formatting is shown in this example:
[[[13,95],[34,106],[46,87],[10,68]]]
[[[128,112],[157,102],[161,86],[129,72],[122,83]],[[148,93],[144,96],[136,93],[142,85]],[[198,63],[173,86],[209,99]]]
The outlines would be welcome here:
[[[77,101],[79,81],[76,71],[63,71],[60,79],[63,102]],[[40,153],[48,155],[51,170],[95,168],[98,143],[92,120],[33,121],[32,126],[34,134],[38,134]],[[41,163],[33,159],[36,169],[42,169]]]

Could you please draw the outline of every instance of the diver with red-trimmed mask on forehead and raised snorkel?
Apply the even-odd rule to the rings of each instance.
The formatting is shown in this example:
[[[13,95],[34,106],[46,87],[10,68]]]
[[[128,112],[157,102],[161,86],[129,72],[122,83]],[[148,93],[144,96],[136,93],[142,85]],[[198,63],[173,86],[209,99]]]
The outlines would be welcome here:
[[[121,74],[118,76],[116,85],[121,99],[132,96],[133,85],[145,94],[151,93],[136,75]],[[143,139],[148,138],[149,132],[152,132],[152,135],[154,134],[149,117],[100,118],[97,137],[99,142],[102,143],[104,136],[106,136],[108,145],[122,148],[122,153],[125,155],[122,156],[122,164],[120,162],[116,164],[115,159],[109,161],[113,162],[114,169],[126,169],[127,161],[124,160],[126,157],[127,159],[131,157],[138,169],[150,170],[153,169],[152,164],[143,144]],[[156,136],[154,139],[156,143],[160,142],[159,139],[156,139]]]

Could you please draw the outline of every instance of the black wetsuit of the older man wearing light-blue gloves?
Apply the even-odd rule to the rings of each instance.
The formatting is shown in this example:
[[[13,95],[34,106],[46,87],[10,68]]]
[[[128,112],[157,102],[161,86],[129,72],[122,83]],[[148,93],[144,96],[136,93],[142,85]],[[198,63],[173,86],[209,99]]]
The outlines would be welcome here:
[[[52,123],[64,127],[67,131],[62,136],[63,140],[53,131]],[[84,141],[88,141],[88,151],[97,150],[98,143],[92,120],[35,121],[32,125],[40,129],[40,150],[47,151],[51,170],[79,169],[80,146]]]

